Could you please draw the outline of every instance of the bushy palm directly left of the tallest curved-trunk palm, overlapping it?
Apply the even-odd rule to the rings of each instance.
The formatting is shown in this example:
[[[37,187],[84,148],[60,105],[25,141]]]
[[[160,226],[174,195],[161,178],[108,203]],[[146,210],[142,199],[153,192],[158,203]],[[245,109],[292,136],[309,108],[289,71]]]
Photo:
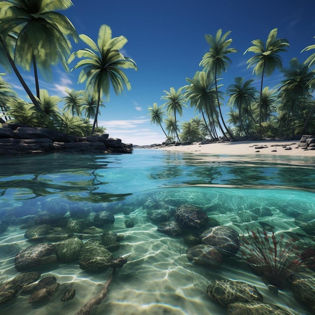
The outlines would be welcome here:
[[[195,107],[195,110],[201,113],[211,139],[217,139],[215,126],[218,121],[218,111],[216,109],[217,102],[213,76],[204,71],[197,71],[192,79],[186,77],[186,81],[190,83],[190,85],[184,87],[187,101],[190,102],[191,107]],[[222,92],[219,91],[218,93],[221,96]],[[204,113],[207,115],[210,128]]]

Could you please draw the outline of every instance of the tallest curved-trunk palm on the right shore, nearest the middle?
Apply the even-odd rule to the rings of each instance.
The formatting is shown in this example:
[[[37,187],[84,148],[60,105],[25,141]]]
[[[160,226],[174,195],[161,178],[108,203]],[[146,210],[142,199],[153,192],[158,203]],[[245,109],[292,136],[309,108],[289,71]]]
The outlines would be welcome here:
[[[235,48],[228,48],[228,46],[232,43],[232,39],[226,40],[230,32],[231,31],[228,31],[222,35],[222,30],[219,29],[216,32],[215,38],[210,34],[205,35],[205,39],[207,43],[210,45],[210,50],[209,52],[203,55],[202,60],[200,61],[199,65],[203,66],[204,70],[211,71],[214,74],[216,101],[218,104],[220,117],[221,117],[225,130],[227,131],[229,136],[233,139],[234,137],[230,133],[228,128],[226,127],[224,119],[223,119],[220,101],[219,101],[218,86],[217,86],[218,75],[221,75],[222,71],[226,72],[226,68],[229,66],[229,63],[231,63],[231,59],[227,57],[227,54],[237,52]],[[220,123],[219,123],[219,128],[223,136],[226,139],[228,139]]]

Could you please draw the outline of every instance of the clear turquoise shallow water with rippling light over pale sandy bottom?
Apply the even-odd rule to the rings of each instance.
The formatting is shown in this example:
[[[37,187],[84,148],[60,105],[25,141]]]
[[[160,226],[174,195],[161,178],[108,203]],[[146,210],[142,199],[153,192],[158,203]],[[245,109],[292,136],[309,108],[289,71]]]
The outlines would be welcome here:
[[[206,209],[210,218],[237,230],[274,226],[276,234],[304,234],[304,246],[314,241],[298,227],[299,213],[315,212],[315,157],[197,155],[136,149],[122,155],[68,155],[1,157],[1,210],[20,206],[41,210],[51,197],[60,197],[68,205],[103,205],[115,214],[115,222],[104,226],[124,234],[114,256],[124,256],[128,263],[117,270],[108,295],[93,308],[93,314],[225,314],[226,311],[206,296],[207,286],[215,279],[245,281],[255,285],[264,302],[281,306],[294,314],[310,314],[297,303],[290,290],[276,296],[242,262],[224,260],[221,268],[192,264],[181,237],[169,237],[156,230],[145,210],[148,200],[177,207],[189,203]],[[93,208],[94,207],[94,208]],[[125,210],[131,211],[129,214]],[[272,216],[248,218],[253,209]],[[34,211],[34,210],[32,210]],[[125,213],[125,214],[124,214]],[[93,218],[92,211],[90,217]],[[65,215],[69,216],[69,213]],[[131,219],[134,227],[126,228]],[[22,249],[36,244],[24,238],[26,228],[11,221],[0,234],[0,281],[2,284],[18,273],[14,257]],[[99,235],[96,235],[96,237]],[[86,235],[84,241],[90,238]],[[55,276],[60,287],[45,303],[28,304],[28,296],[18,295],[0,305],[10,314],[75,313],[89,298],[99,293],[111,270],[85,271],[77,263],[51,264],[39,268],[42,276]],[[76,289],[74,299],[60,298],[66,288]]]

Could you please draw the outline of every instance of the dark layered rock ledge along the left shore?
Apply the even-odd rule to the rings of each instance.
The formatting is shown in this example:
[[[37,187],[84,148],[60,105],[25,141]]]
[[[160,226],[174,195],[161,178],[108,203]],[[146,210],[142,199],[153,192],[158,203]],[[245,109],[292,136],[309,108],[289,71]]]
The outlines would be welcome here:
[[[4,123],[0,128],[0,155],[35,153],[132,153],[132,144],[108,134],[76,137],[57,130]]]

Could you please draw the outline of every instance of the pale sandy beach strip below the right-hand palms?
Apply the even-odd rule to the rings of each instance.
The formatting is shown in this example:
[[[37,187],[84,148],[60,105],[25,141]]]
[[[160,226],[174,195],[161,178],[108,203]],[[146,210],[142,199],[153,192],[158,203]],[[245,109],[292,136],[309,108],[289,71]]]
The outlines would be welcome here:
[[[159,149],[167,151],[227,154],[227,155],[290,155],[315,156],[315,150],[298,147],[299,141],[230,141],[208,144],[193,143],[191,145],[173,145]]]

